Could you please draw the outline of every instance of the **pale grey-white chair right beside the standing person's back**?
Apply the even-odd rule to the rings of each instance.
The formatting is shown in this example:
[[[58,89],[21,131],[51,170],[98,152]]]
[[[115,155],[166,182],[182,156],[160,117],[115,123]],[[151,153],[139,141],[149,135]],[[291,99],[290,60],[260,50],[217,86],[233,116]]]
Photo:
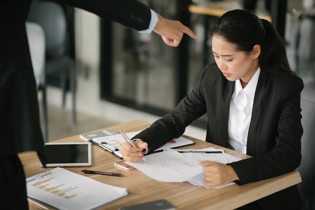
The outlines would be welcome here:
[[[45,77],[45,34],[43,28],[31,22],[26,22],[26,32],[31,53],[37,91],[42,91],[43,130],[45,142],[48,140],[46,77]]]

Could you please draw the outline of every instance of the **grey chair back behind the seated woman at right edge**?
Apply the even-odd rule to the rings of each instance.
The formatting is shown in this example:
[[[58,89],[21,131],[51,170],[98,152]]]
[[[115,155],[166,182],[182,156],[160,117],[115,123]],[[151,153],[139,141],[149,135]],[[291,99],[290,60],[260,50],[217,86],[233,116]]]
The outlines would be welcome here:
[[[302,177],[302,182],[297,184],[303,201],[309,197],[312,179],[315,175],[315,103],[301,99],[301,123],[303,136],[301,139],[301,165],[296,169]]]

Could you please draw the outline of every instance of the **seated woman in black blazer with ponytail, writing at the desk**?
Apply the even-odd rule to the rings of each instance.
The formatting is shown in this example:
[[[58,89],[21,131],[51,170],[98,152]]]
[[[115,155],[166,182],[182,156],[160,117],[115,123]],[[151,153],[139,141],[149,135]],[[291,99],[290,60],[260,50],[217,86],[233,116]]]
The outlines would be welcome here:
[[[206,141],[251,155],[221,164],[204,161],[206,186],[234,181],[243,185],[295,170],[301,161],[302,80],[290,69],[285,44],[273,25],[253,13],[233,10],[211,31],[215,64],[201,73],[197,86],[162,119],[136,135],[137,148],[124,143],[124,160],[140,159],[181,136],[205,113]],[[297,186],[240,209],[300,209]]]

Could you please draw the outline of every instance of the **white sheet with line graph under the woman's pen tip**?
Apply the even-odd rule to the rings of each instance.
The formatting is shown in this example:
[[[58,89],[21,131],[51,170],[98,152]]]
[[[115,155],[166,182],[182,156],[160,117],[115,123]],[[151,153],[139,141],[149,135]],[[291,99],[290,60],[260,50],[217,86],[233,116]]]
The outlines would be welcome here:
[[[153,153],[129,165],[153,179],[163,182],[183,182],[202,173],[199,161],[173,150]]]

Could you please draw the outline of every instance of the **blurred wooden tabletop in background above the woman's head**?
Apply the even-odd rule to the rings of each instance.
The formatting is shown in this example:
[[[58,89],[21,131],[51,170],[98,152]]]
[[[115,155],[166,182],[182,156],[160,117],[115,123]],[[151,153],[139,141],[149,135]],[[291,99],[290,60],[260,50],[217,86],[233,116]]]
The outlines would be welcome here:
[[[194,14],[208,15],[214,17],[221,17],[224,13],[230,10],[243,9],[238,1],[223,1],[223,2],[212,2],[202,6],[190,5],[188,11]],[[261,19],[266,19],[271,22],[271,17],[264,14],[256,14]]]

